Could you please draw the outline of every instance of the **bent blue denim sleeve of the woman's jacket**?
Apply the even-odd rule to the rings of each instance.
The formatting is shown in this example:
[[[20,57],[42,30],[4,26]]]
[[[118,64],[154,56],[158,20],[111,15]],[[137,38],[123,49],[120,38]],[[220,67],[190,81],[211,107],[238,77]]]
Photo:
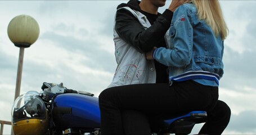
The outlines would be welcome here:
[[[191,17],[191,12],[186,6],[176,9],[169,29],[169,38],[172,40],[170,47],[155,50],[155,60],[166,66],[185,67],[190,64],[193,44]]]

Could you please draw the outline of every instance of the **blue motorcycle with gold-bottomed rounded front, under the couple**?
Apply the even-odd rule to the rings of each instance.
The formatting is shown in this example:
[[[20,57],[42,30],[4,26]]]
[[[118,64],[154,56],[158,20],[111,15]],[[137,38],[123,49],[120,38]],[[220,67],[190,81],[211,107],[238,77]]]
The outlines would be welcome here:
[[[68,89],[62,83],[44,82],[41,88],[16,98],[11,120],[15,134],[101,134],[98,98],[92,93]],[[161,116],[164,119],[155,122],[161,127],[152,134],[189,134],[206,116],[205,111]]]

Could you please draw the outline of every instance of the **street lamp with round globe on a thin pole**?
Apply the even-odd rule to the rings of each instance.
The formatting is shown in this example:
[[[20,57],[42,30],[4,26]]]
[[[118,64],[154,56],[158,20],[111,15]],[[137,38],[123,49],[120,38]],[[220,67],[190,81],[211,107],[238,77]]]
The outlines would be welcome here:
[[[15,98],[20,95],[21,74],[23,69],[24,48],[30,47],[39,37],[39,26],[37,21],[28,15],[14,17],[8,25],[8,37],[16,47],[20,48]]]

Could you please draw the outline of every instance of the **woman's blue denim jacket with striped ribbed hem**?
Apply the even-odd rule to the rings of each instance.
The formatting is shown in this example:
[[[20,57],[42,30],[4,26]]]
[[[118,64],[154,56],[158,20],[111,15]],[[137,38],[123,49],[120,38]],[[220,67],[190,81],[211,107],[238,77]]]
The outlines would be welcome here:
[[[156,49],[153,57],[169,66],[170,82],[192,79],[206,86],[218,86],[223,75],[223,40],[197,18],[193,3],[176,9],[167,39],[168,49]]]

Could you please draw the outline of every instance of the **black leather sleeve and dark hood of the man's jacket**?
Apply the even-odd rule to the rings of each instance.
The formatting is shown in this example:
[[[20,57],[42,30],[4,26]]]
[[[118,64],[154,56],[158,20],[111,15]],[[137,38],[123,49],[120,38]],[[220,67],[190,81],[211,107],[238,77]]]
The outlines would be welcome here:
[[[140,1],[131,0],[127,4],[119,4],[117,9],[120,7],[130,7],[133,10],[143,13],[139,3]],[[115,30],[125,42],[131,44],[139,52],[145,53],[152,50],[158,44],[159,40],[164,37],[170,27],[172,16],[172,11],[165,10],[162,15],[159,15],[154,24],[151,24],[152,26],[145,30],[131,12],[120,9],[116,11]]]

